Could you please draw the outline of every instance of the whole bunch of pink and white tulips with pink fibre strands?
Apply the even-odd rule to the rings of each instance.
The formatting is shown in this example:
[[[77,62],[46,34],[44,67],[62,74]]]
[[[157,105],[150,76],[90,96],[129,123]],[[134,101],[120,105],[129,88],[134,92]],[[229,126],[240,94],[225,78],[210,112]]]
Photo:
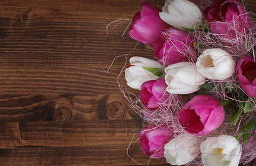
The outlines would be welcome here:
[[[239,165],[256,157],[255,24],[237,0],[200,9],[142,3],[129,35],[155,59],[131,57],[128,96],[143,118],[141,149],[170,165]],[[130,94],[130,93],[129,93]]]

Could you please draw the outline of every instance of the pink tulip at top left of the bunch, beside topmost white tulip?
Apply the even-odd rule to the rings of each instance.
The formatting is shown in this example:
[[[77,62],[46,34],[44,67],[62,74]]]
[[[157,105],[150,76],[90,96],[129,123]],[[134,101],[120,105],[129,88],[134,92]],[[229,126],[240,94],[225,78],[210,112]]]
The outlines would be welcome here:
[[[143,2],[140,12],[136,12],[132,20],[133,24],[129,28],[129,35],[131,38],[152,46],[155,39],[165,29],[170,28],[159,17],[159,8],[149,2]]]

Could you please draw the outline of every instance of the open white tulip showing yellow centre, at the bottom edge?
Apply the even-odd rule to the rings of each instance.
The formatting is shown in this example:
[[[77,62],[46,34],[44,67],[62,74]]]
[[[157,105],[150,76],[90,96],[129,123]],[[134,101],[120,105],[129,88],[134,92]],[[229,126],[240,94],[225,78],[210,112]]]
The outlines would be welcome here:
[[[206,166],[237,166],[241,158],[241,145],[233,136],[207,138],[200,145],[202,163]]]

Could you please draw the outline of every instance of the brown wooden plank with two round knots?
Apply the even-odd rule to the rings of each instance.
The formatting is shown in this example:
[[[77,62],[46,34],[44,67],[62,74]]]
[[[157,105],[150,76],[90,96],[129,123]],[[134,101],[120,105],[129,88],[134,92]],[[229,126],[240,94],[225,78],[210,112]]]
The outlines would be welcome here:
[[[1,122],[141,119],[121,94],[0,95]]]

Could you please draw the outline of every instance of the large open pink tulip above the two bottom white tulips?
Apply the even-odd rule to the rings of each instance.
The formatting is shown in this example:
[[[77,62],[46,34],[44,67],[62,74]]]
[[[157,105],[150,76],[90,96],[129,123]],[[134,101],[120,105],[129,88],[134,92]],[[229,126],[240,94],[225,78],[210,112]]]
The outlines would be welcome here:
[[[225,111],[211,95],[196,95],[179,111],[179,124],[195,135],[203,136],[221,126]]]

